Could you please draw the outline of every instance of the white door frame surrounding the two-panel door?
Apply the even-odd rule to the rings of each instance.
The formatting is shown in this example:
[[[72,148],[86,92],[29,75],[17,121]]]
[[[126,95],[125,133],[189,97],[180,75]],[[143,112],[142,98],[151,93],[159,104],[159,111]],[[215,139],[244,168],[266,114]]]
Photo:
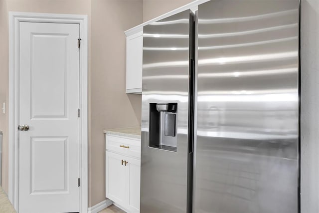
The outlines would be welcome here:
[[[88,17],[87,15],[9,12],[9,174],[8,197],[18,211],[19,194],[19,22],[76,23],[80,24],[80,66],[79,66],[79,171],[80,171],[80,213],[88,211]]]

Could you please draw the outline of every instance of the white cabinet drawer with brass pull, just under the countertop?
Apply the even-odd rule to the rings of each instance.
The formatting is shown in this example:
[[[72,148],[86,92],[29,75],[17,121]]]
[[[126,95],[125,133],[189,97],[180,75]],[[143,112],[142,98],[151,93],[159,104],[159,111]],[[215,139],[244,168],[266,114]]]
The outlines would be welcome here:
[[[106,135],[106,150],[141,158],[141,139],[128,139]]]

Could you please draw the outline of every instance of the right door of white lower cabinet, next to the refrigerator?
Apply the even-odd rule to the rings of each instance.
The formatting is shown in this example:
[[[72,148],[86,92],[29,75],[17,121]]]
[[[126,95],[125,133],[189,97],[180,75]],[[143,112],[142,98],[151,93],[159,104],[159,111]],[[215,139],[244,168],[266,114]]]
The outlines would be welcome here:
[[[141,161],[127,158],[127,209],[130,213],[140,212]]]

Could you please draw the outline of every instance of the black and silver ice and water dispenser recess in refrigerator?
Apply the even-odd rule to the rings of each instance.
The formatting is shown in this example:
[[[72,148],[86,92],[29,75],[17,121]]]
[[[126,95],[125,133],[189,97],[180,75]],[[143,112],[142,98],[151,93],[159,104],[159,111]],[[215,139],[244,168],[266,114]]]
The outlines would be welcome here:
[[[151,103],[149,146],[176,152],[176,123],[177,103]]]

